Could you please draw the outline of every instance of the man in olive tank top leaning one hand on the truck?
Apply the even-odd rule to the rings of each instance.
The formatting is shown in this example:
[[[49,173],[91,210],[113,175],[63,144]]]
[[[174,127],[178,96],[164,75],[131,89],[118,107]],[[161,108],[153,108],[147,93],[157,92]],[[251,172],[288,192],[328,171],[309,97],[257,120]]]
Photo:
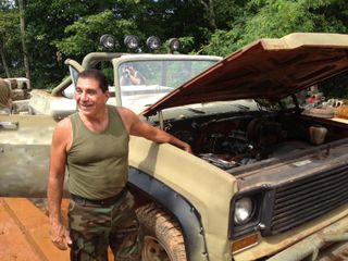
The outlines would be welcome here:
[[[48,183],[50,237],[60,249],[71,247],[71,260],[107,260],[108,246],[117,261],[140,260],[141,232],[127,191],[129,135],[170,142],[188,152],[190,146],[141,122],[126,108],[107,105],[108,83],[97,70],[79,74],[78,112],[58,123]],[[65,166],[72,195],[69,228],[61,221]]]

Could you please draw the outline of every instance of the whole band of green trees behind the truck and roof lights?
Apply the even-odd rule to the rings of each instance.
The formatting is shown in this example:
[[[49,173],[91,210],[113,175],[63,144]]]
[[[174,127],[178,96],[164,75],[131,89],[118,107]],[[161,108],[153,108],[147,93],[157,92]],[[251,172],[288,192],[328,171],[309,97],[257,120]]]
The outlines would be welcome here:
[[[181,37],[184,52],[227,55],[260,37],[294,32],[348,33],[346,0],[0,0],[0,76],[25,76],[18,2],[24,1],[25,44],[33,86],[51,88],[77,61],[100,50],[113,34],[125,51],[125,35],[142,42]],[[165,48],[162,48],[166,51]]]

